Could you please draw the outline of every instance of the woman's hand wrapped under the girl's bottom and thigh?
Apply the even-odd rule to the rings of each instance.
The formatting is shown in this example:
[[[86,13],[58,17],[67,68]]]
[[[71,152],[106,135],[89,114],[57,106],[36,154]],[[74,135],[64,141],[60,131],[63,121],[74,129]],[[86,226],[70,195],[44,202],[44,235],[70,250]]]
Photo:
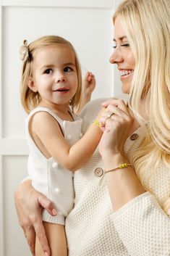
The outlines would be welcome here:
[[[43,194],[39,193],[31,181],[23,181],[14,194],[17,216],[22,227],[32,255],[35,255],[35,234],[38,237],[44,254],[51,255],[46,233],[43,228],[41,212],[45,208],[51,215],[56,215],[54,204]]]

